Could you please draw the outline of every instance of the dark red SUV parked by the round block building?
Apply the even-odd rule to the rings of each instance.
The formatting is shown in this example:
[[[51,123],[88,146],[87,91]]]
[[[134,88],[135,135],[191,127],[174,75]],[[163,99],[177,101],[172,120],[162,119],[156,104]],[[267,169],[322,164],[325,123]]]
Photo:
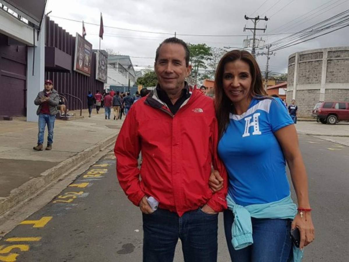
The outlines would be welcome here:
[[[314,106],[312,117],[323,124],[334,125],[349,120],[349,103],[340,101],[319,102]]]

